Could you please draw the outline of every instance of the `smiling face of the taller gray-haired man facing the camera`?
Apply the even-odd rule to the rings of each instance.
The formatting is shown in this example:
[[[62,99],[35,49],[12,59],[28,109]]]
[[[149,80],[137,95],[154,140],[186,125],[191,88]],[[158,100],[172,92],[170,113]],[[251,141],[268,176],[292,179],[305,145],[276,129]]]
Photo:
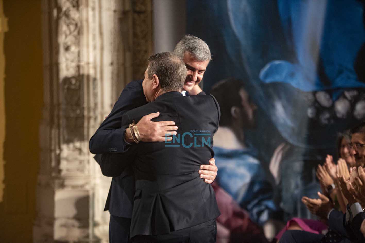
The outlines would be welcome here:
[[[203,79],[209,60],[197,61],[189,52],[185,52],[183,60],[188,69],[184,89],[189,92]]]

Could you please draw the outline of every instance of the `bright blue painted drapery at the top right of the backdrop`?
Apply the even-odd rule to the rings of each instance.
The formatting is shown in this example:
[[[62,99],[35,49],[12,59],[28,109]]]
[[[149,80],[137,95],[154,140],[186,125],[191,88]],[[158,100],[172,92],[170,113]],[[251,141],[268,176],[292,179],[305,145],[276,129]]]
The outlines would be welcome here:
[[[365,87],[354,70],[365,42],[360,1],[278,0],[278,9],[296,60],[270,61],[260,72],[264,83],[289,83],[302,91]],[[326,80],[317,73],[318,62]]]

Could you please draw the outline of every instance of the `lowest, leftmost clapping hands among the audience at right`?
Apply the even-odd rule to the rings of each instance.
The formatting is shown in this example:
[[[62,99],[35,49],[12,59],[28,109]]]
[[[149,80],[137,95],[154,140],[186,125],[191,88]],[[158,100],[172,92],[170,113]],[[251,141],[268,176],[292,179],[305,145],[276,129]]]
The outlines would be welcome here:
[[[304,205],[306,205],[306,207],[312,214],[317,215],[322,219],[327,219],[327,215],[333,208],[333,205],[330,202],[330,199],[320,192],[318,192],[318,196],[319,199],[312,199],[303,196],[303,198],[301,198],[301,201],[304,203]]]

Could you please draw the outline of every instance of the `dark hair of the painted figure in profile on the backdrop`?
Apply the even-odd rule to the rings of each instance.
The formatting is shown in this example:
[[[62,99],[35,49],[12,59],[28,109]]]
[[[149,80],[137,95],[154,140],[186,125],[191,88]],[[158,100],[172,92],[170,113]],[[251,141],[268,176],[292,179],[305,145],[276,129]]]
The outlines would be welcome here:
[[[238,93],[242,88],[244,88],[243,81],[234,78],[223,79],[213,85],[210,93],[220,106],[219,126],[231,126],[233,122],[231,108],[242,106],[242,98]]]

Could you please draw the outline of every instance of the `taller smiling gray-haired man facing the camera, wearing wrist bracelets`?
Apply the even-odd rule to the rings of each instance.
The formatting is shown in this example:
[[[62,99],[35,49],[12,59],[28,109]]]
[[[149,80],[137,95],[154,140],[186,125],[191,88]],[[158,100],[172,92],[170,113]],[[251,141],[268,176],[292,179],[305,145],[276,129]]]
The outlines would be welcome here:
[[[186,35],[179,41],[174,51],[176,55],[184,60],[187,67],[187,76],[183,85],[183,95],[197,95],[203,93],[199,87],[203,79],[205,69],[211,60],[208,45],[198,37]],[[122,115],[131,109],[146,104],[146,96],[142,90],[142,81],[132,81],[120,94],[111,113],[100,125],[89,142],[90,151],[100,162],[100,154],[121,153],[133,147],[135,142],[131,136],[128,126],[121,126]],[[160,112],[145,115],[136,124],[142,142],[158,142],[171,140],[165,138],[165,134],[176,134],[177,127],[173,121],[153,122],[151,119],[158,117]],[[125,137],[125,135],[127,135]],[[124,138],[124,139],[123,139]],[[205,183],[212,183],[217,174],[217,167],[213,158],[209,160],[209,165],[201,165],[199,174]],[[131,170],[124,170],[121,175],[114,175],[111,190],[108,195],[104,210],[110,212],[109,239],[110,242],[127,242],[128,232],[132,215],[132,199],[135,193],[134,175]],[[123,182],[124,187],[117,185]],[[118,195],[118,196],[116,196]],[[111,198],[116,198],[111,200]]]

